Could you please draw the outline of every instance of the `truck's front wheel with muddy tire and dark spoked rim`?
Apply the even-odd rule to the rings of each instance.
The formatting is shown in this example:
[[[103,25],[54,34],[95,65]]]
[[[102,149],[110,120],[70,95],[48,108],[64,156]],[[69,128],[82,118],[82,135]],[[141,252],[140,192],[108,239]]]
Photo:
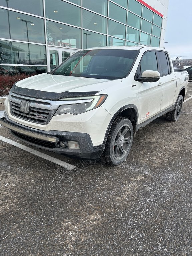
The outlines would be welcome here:
[[[128,156],[133,142],[133,126],[129,119],[118,116],[109,132],[105,150],[101,155],[104,163],[121,164]]]

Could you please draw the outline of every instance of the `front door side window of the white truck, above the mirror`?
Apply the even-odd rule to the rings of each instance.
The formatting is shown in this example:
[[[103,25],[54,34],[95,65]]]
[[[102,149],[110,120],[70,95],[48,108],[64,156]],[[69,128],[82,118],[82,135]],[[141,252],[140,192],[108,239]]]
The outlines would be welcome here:
[[[154,51],[146,52],[140,62],[140,65],[137,68],[137,76],[141,76],[143,71],[145,70],[154,70],[158,71],[158,66],[157,66],[157,58],[156,54]]]

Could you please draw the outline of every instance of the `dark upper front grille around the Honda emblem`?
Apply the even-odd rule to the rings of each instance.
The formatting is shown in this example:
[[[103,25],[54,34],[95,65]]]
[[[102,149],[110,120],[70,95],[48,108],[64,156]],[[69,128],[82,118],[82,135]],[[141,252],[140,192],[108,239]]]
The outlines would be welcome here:
[[[35,107],[30,107],[29,113],[23,113],[20,110],[20,103],[16,103],[13,101],[10,101],[10,108],[11,114],[13,116],[39,124],[47,124],[55,113],[55,110],[41,109]]]

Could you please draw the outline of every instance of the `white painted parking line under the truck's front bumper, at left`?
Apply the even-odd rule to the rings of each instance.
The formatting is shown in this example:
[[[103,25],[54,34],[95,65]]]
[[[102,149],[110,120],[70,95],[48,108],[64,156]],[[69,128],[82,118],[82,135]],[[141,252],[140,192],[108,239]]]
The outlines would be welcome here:
[[[13,145],[13,146],[15,146],[15,147],[20,148],[20,149],[23,149],[23,150],[25,150],[25,151],[27,151],[27,152],[33,154],[33,155],[39,156],[39,157],[41,157],[41,158],[44,158],[45,160],[48,160],[48,161],[53,162],[53,163],[55,163],[55,164],[58,164],[58,165],[60,165],[60,166],[62,166],[62,167],[65,167],[65,168],[68,169],[68,170],[73,170],[74,168],[76,168],[75,165],[68,164],[68,163],[66,163],[66,162],[63,162],[63,161],[57,159],[57,158],[54,158],[54,157],[52,157],[52,156],[48,156],[48,155],[46,155],[46,154],[44,154],[44,153],[41,153],[41,152],[39,152],[39,151],[37,151],[37,150],[34,150],[34,149],[32,149],[32,148],[26,147],[26,146],[24,146],[24,145],[22,145],[22,144],[19,144],[19,143],[15,142],[15,141],[10,140],[10,139],[7,139],[7,138],[5,138],[5,137],[0,136],[0,140],[2,140],[2,141],[4,141],[4,142],[7,142],[7,143],[9,143],[9,144],[11,144],[11,145]]]

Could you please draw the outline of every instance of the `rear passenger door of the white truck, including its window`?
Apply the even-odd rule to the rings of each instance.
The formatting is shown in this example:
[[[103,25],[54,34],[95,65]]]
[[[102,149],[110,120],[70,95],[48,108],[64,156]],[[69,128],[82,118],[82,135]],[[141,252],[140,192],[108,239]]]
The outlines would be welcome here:
[[[157,51],[156,53],[160,73],[160,81],[163,87],[163,97],[161,101],[162,112],[173,105],[177,83],[174,71],[171,69],[168,54],[164,51]]]

